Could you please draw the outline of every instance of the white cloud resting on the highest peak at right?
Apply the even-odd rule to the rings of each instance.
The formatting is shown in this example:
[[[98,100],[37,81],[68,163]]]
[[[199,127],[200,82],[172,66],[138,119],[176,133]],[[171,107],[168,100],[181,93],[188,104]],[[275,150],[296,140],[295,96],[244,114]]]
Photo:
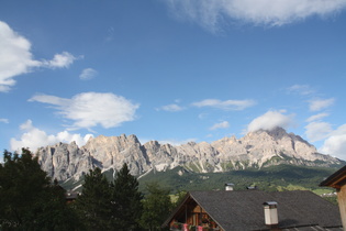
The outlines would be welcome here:
[[[284,111],[268,111],[265,114],[254,119],[247,125],[247,132],[258,130],[272,130],[277,127],[287,129],[293,125],[293,114],[283,114]]]

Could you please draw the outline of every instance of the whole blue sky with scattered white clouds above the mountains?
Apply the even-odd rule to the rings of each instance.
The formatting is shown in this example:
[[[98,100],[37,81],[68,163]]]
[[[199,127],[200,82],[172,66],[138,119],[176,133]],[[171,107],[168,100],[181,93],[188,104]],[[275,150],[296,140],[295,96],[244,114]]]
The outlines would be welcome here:
[[[0,147],[282,127],[346,160],[346,0],[0,0]]]

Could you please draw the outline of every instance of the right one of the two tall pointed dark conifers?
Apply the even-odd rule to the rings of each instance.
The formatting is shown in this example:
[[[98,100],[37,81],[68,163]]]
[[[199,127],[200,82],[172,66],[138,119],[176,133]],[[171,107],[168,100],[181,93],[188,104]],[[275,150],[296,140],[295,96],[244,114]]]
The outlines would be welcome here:
[[[138,191],[137,179],[130,174],[126,164],[116,172],[112,202],[113,202],[113,226],[116,230],[138,230],[142,216],[143,195]]]

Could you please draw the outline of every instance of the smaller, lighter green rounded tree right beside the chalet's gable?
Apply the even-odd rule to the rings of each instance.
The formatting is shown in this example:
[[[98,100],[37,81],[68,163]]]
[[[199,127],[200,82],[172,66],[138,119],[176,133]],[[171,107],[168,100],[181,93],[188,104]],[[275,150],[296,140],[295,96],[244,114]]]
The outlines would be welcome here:
[[[142,226],[146,230],[161,230],[160,226],[172,208],[169,189],[160,188],[157,183],[146,185],[148,195],[143,200]]]

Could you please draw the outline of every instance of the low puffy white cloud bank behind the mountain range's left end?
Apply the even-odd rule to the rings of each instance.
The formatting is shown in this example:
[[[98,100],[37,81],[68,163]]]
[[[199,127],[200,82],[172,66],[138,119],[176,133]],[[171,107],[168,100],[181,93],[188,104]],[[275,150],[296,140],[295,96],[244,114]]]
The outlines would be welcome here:
[[[20,129],[23,131],[21,138],[19,140],[12,138],[10,141],[12,151],[29,147],[32,152],[35,152],[41,146],[53,145],[58,142],[70,143],[72,141],[75,141],[78,146],[82,146],[93,136],[92,134],[81,136],[80,134],[71,134],[68,131],[48,135],[45,131],[35,128],[31,120],[21,124]]]

